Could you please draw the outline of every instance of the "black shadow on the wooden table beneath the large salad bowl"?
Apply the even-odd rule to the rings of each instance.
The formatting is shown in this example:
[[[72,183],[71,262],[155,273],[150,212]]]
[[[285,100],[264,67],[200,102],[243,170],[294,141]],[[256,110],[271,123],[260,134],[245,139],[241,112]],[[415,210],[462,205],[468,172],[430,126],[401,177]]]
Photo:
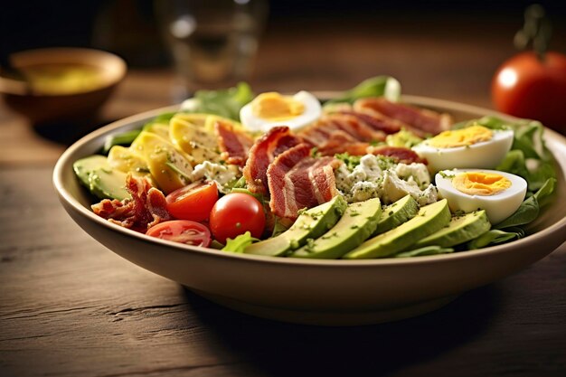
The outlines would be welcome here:
[[[216,338],[214,347],[222,344],[226,352],[276,377],[389,375],[475,339],[489,328],[505,299],[490,285],[423,316],[379,325],[326,327],[243,315],[187,288],[184,297]]]

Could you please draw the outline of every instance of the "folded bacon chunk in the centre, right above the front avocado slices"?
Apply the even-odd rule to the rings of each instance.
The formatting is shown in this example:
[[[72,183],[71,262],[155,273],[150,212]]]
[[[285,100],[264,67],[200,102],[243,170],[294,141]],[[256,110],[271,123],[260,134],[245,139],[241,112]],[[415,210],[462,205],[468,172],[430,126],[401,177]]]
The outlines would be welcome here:
[[[314,158],[306,143],[289,148],[269,165],[269,207],[277,216],[296,219],[298,210],[326,203],[338,194],[334,157]]]

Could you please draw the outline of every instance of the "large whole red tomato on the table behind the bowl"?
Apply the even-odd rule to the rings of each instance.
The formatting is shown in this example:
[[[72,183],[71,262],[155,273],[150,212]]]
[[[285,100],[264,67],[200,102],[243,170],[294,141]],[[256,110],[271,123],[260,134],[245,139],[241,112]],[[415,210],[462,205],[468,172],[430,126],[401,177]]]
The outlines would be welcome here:
[[[566,55],[515,55],[495,73],[491,93],[499,111],[566,130]]]

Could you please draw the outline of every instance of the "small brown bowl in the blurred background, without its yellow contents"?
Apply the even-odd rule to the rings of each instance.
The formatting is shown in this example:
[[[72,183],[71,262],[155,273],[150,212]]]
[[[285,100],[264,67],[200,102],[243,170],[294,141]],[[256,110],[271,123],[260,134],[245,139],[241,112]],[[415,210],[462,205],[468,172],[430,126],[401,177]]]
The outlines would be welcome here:
[[[96,115],[127,72],[126,62],[110,52],[80,48],[46,48],[11,55],[15,69],[65,64],[99,70],[99,82],[90,90],[66,93],[33,89],[25,81],[0,76],[0,93],[6,105],[33,124],[81,121]]]

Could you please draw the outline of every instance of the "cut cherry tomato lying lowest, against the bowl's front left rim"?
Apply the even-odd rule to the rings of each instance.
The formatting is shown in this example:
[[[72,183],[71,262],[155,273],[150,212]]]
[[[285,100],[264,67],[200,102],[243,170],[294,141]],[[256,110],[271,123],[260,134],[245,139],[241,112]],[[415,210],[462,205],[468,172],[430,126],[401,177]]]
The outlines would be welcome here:
[[[148,236],[163,240],[203,246],[211,243],[211,231],[200,222],[190,220],[170,220],[159,222],[146,231]]]

